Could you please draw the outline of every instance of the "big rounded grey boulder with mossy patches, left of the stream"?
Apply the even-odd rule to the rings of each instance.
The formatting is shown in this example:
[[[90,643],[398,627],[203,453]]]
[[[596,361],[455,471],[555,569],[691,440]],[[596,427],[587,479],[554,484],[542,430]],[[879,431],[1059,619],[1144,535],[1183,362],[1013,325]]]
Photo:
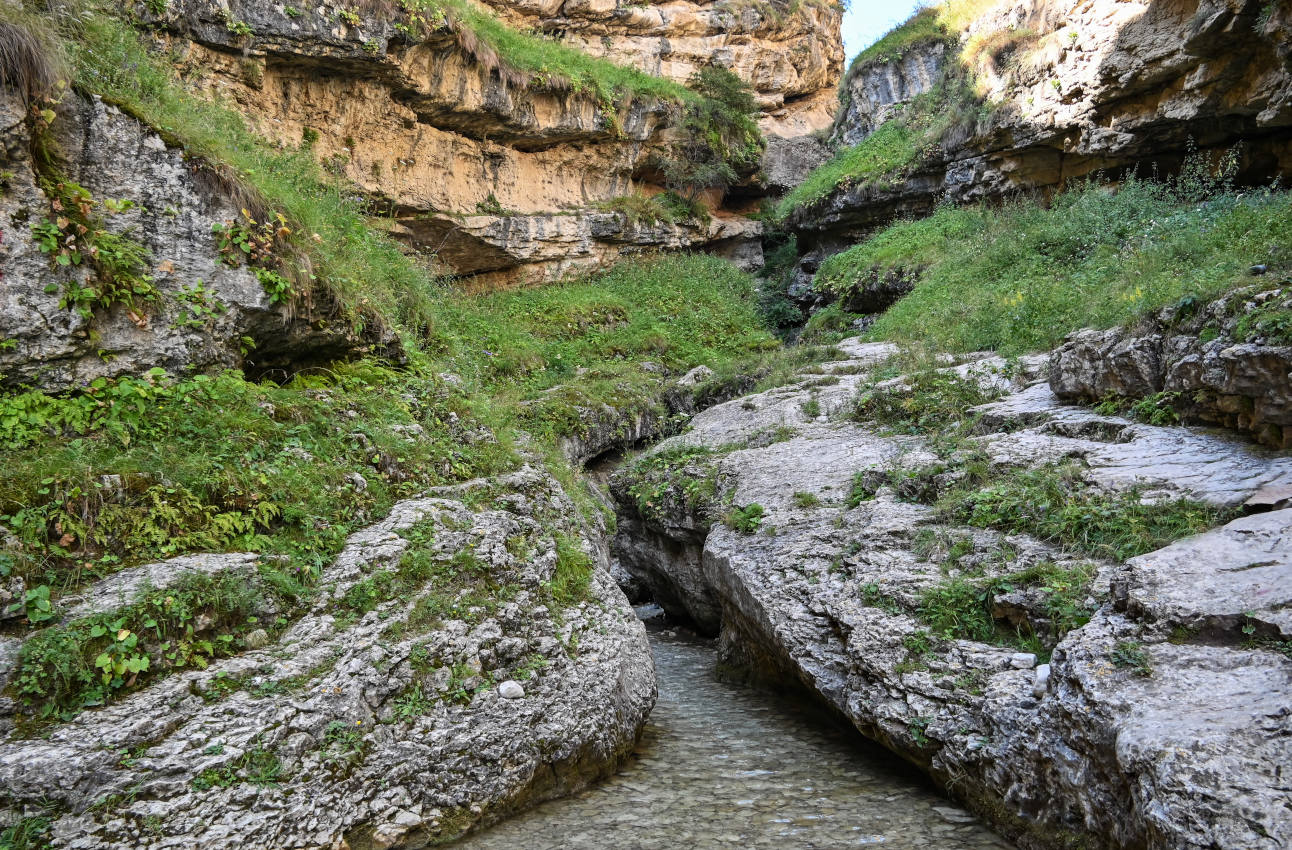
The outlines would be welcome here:
[[[599,532],[574,537],[593,562],[587,601],[544,602],[552,530],[576,515],[530,468],[399,503],[273,638],[41,736],[8,722],[4,822],[43,813],[59,847],[420,847],[584,787],[630,752],[655,685]],[[428,540],[432,558],[470,552],[512,593],[428,624],[429,583],[346,615],[348,594]],[[0,647],[6,668],[13,656]]]

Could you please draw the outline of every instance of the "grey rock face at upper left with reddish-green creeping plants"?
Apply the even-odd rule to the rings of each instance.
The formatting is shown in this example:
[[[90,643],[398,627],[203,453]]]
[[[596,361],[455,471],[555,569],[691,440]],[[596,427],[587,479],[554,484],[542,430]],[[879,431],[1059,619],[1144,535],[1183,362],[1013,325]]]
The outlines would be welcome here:
[[[218,174],[134,119],[68,97],[43,137],[61,155],[57,174],[37,173],[30,115],[0,90],[0,382],[65,389],[152,367],[257,372],[362,351],[398,357],[393,335],[371,322],[351,331],[326,293],[274,304],[248,267],[225,265],[212,226],[238,216],[235,200]],[[68,302],[93,285],[93,270],[88,257],[63,267],[41,251],[37,230],[59,218],[41,181],[83,187],[90,214],[146,252],[151,298],[85,313]]]

